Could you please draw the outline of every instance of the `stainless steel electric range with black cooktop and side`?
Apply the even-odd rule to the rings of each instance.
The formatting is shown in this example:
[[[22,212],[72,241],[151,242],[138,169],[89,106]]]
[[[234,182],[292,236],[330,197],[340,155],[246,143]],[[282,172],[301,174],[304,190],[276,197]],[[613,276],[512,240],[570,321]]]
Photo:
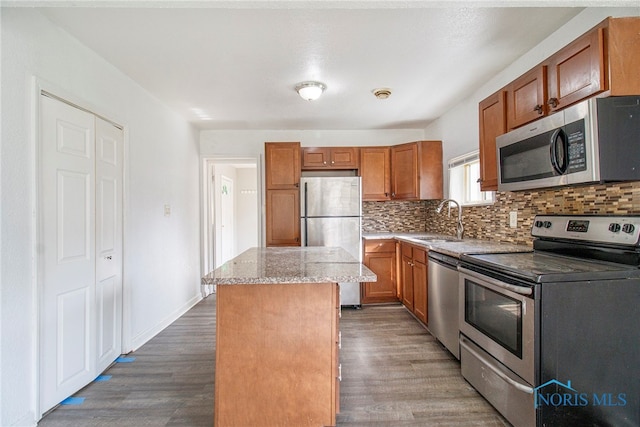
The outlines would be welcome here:
[[[640,425],[640,216],[539,215],[461,256],[463,376],[515,426]]]

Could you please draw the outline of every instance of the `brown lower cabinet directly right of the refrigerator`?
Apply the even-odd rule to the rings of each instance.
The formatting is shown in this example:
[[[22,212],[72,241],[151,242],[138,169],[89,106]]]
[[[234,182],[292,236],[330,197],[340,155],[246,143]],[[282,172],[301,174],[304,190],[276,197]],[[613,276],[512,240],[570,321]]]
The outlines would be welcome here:
[[[365,240],[364,265],[376,273],[378,281],[362,284],[362,304],[397,302],[395,240]]]

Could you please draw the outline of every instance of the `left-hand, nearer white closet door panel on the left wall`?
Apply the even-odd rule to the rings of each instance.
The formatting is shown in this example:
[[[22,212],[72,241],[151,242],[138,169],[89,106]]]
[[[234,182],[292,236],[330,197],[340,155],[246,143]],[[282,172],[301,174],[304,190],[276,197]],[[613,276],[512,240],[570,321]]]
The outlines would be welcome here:
[[[40,410],[95,378],[95,118],[41,96]]]

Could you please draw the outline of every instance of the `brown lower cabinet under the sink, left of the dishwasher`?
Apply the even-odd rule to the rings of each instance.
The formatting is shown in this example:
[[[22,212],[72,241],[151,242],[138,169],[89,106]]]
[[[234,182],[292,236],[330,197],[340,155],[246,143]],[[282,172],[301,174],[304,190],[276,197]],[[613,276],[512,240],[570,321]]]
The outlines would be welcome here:
[[[408,243],[400,245],[402,303],[427,324],[427,251]]]

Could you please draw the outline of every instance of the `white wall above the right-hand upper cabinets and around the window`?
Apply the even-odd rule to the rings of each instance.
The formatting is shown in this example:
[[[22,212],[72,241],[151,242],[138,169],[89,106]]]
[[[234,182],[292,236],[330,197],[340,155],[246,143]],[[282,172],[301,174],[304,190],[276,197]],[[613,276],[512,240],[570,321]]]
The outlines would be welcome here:
[[[640,7],[585,9],[562,28],[540,42],[535,48],[518,58],[510,66],[470,94],[463,102],[434,121],[426,128],[425,139],[441,139],[443,141],[443,167],[446,167],[449,159],[478,149],[480,133],[478,103],[481,100],[535,67],[606,17],[639,15]],[[445,173],[445,194],[447,193],[448,175]]]

